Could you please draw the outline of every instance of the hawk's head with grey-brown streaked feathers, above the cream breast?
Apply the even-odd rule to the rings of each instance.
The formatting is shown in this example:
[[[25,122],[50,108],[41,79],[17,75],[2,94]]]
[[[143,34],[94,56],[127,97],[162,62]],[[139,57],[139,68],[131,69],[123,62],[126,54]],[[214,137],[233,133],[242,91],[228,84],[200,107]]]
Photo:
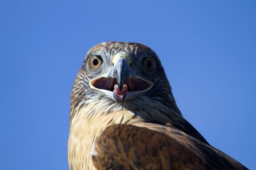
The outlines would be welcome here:
[[[93,46],[77,74],[71,99],[71,113],[97,103],[108,110],[164,106],[180,114],[159,57],[140,43]]]

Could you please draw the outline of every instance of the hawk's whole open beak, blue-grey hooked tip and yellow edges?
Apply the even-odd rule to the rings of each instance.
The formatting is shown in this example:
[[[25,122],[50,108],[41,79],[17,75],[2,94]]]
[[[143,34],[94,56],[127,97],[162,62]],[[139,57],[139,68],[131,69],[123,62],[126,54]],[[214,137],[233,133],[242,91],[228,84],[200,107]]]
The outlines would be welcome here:
[[[104,92],[116,102],[126,101],[151,89],[153,83],[136,76],[125,57],[116,60],[112,69],[90,81],[90,87]]]

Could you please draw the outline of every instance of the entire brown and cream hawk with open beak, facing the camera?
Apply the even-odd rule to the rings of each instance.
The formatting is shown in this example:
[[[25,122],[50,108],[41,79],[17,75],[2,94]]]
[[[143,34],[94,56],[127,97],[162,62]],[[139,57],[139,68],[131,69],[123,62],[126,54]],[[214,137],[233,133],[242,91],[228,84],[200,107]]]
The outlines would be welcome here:
[[[84,58],[71,94],[70,169],[247,169],[182,117],[157,54],[106,42]]]

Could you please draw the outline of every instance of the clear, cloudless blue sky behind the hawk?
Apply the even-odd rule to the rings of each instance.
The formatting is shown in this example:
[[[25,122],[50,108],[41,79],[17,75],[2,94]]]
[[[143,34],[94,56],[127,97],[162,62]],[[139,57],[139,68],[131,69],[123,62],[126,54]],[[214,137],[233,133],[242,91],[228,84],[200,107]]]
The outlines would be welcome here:
[[[84,54],[135,41],[159,55],[184,117],[256,169],[255,1],[1,1],[1,169],[68,169]]]

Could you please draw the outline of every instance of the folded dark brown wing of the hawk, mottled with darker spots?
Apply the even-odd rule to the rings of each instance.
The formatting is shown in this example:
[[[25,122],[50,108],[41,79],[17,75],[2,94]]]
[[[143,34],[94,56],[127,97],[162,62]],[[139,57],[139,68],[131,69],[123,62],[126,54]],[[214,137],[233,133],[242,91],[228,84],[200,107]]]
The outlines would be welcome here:
[[[247,169],[209,145],[157,124],[108,127],[95,141],[97,169]]]

